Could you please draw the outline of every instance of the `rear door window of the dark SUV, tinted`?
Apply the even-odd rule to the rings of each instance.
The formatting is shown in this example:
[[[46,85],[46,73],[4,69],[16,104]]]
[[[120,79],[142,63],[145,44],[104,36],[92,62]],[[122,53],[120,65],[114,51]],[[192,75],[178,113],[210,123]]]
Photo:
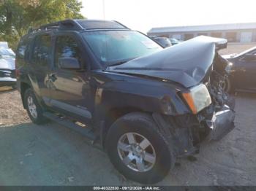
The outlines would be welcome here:
[[[48,65],[51,54],[50,35],[37,36],[34,43],[33,61],[39,65]]]

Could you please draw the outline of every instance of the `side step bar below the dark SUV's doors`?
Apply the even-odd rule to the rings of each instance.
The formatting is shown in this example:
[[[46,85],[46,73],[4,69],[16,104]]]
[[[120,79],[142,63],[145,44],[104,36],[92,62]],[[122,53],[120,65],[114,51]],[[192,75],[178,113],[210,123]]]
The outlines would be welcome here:
[[[83,136],[86,136],[87,139],[90,139],[91,144],[94,144],[94,141],[97,139],[97,136],[94,135],[91,128],[82,128],[79,125],[76,125],[74,122],[71,122],[70,120],[60,118],[56,114],[50,113],[50,112],[44,112],[43,114],[45,117],[47,117],[50,120],[53,120],[60,125],[64,125],[66,128],[69,128],[71,130],[75,130],[78,133],[81,133]]]

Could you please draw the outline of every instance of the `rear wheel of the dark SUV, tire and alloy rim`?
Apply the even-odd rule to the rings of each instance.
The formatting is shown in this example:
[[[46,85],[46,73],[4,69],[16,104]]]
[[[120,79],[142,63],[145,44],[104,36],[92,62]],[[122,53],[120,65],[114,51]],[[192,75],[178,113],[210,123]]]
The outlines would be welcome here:
[[[38,104],[37,98],[31,88],[26,89],[24,93],[24,104],[32,122],[36,124],[48,122],[43,116],[43,109]]]

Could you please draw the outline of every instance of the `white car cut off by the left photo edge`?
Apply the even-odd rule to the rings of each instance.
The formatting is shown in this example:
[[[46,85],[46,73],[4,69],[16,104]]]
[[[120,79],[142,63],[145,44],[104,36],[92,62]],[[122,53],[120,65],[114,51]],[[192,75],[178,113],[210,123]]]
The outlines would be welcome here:
[[[8,47],[7,42],[0,43],[0,87],[16,86],[15,53]]]

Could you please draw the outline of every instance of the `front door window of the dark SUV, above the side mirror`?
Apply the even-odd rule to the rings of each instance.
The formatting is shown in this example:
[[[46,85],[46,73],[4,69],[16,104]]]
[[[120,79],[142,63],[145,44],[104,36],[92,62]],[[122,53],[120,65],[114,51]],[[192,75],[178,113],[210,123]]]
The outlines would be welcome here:
[[[81,63],[81,52],[78,43],[71,36],[59,36],[56,41],[55,63],[59,58],[76,58]]]

